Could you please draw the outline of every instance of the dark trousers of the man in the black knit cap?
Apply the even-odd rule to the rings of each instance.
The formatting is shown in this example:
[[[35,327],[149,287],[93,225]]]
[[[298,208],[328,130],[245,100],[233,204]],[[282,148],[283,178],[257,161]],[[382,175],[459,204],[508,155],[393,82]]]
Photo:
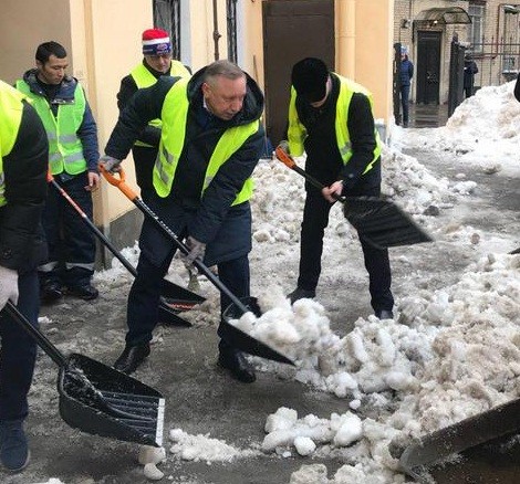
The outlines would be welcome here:
[[[351,196],[364,194],[378,197],[379,188],[364,190],[363,193],[351,192]],[[300,241],[300,275],[298,286],[313,291],[318,286],[321,273],[321,259],[323,253],[323,235],[329,224],[329,213],[332,203],[326,201],[319,190],[308,191],[303,209],[303,222]],[[388,250],[372,246],[360,238],[365,267],[368,272],[371,304],[374,311],[394,307],[394,297],[391,291],[392,274]]]

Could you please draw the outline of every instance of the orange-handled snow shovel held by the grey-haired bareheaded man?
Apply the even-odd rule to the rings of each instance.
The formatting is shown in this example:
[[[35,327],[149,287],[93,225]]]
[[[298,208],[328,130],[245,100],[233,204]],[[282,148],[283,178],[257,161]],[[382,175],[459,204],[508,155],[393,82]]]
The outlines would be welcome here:
[[[125,197],[128,198],[135,206],[149,218],[156,227],[176,245],[176,248],[185,255],[189,253],[189,249],[177,238],[175,232],[166,225],[156,213],[135,193],[132,188],[129,188],[125,182],[125,173],[123,170],[118,171],[119,178],[116,178],[110,171],[106,171],[103,167],[100,167],[101,172],[106,178],[108,183],[117,187]],[[204,264],[202,261],[196,259],[194,265],[201,272],[208,280],[211,282],[215,287],[217,287],[221,293],[226,294],[231,299],[232,305],[240,312],[240,315],[253,312],[252,308],[249,308],[243,304],[228,287],[215,275],[211,270]],[[226,340],[232,344],[236,348],[248,353],[250,355],[259,356],[266,359],[272,359],[273,361],[279,361],[288,365],[294,365],[294,362],[289,359],[287,356],[280,354],[275,349],[271,348],[269,345],[259,341],[258,339],[249,336],[247,333],[237,328],[236,326],[229,324],[226,319],[222,320],[222,328]]]

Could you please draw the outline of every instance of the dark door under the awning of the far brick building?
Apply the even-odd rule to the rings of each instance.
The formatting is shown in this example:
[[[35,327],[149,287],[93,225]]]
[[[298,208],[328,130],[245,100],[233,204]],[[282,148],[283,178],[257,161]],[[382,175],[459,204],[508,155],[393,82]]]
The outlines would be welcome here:
[[[417,104],[439,104],[440,40],[443,32],[417,32]]]

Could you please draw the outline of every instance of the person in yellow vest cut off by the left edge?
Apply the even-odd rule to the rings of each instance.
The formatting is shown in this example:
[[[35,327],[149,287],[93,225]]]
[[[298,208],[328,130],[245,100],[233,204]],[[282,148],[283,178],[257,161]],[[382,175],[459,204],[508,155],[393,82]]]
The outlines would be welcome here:
[[[0,462],[10,472],[29,463],[23,424],[37,344],[2,309],[10,301],[38,326],[37,267],[46,252],[41,214],[48,166],[49,143],[37,112],[0,81]]]

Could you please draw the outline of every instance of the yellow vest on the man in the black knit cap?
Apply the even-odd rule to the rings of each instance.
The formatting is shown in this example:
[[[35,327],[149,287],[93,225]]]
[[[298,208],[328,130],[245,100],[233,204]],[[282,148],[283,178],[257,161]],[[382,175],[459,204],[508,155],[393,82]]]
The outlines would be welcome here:
[[[352,96],[354,93],[362,93],[371,103],[373,107],[374,101],[372,97],[372,93],[368,92],[362,85],[351,81],[346,77],[341,75],[334,74],[340,80],[340,95],[337,96],[336,102],[336,116],[335,116],[335,133],[336,133],[336,143],[337,148],[341,154],[341,158],[343,164],[346,165],[349,160],[352,158],[352,145],[351,145],[351,136],[349,133],[349,124],[347,124],[347,115],[349,115],[349,107],[351,105]],[[377,129],[374,128],[374,136],[376,146],[374,148],[373,158],[371,162],[366,166],[363,175],[372,169],[374,162],[379,158],[381,150],[382,150],[382,143],[379,138],[379,134]],[[288,141],[289,141],[289,149],[291,155],[293,156],[301,156],[304,151],[303,141],[306,138],[306,129],[300,122],[298,117],[297,111],[297,91],[294,87],[291,87],[291,99],[289,102],[289,128],[288,128]]]

